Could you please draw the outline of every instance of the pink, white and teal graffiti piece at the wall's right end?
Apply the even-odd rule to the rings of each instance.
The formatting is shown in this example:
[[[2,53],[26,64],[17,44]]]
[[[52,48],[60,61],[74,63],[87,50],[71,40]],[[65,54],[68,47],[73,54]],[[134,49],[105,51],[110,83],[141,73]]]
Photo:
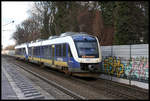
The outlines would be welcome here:
[[[149,62],[147,58],[132,58],[125,65],[125,75],[137,80],[148,80]]]

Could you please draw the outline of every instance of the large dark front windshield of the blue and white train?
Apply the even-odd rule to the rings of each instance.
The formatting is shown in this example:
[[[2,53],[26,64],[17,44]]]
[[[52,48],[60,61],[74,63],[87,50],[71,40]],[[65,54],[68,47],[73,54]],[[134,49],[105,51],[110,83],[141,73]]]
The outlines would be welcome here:
[[[76,48],[80,58],[98,58],[98,45],[96,41],[76,41]]]

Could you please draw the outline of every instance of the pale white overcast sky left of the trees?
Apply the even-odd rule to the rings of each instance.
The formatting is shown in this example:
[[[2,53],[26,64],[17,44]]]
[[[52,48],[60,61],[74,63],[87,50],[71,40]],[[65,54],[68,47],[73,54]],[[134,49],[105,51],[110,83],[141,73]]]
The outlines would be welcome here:
[[[21,24],[22,21],[29,17],[27,11],[31,9],[33,2],[1,2],[2,9],[2,23],[1,23],[1,41],[3,48],[8,45],[14,45],[15,41],[11,38],[13,32],[16,30],[16,25]],[[11,23],[14,21],[14,23]],[[7,25],[8,24],[8,25]]]

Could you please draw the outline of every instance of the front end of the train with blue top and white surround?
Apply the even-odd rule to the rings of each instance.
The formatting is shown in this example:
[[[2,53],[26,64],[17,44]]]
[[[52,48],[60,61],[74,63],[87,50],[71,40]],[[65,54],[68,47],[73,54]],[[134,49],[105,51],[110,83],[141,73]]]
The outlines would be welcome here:
[[[99,41],[91,35],[72,36],[76,52],[74,54],[74,75],[82,77],[98,77],[102,65]],[[77,53],[75,55],[75,53]]]

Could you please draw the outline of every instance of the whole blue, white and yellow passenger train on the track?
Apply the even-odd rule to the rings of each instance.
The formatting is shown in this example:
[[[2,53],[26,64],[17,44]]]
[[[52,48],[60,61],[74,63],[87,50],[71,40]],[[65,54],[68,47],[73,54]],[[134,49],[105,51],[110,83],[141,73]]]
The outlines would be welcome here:
[[[84,32],[65,32],[15,46],[16,58],[79,77],[98,77],[102,67],[99,40]]]

